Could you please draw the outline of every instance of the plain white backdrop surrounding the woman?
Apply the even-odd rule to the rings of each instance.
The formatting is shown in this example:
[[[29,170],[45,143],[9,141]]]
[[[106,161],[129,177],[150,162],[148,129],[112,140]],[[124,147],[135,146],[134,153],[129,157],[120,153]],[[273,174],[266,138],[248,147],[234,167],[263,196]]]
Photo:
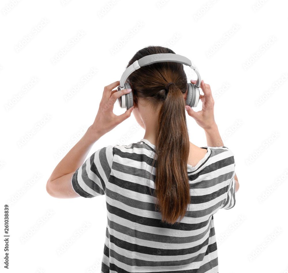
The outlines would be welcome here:
[[[0,6],[1,215],[10,204],[10,272],[100,272],[105,196],[57,199],[46,182],[94,121],[104,86],[120,80],[128,61],[148,45],[170,47],[198,67],[211,86],[224,146],[234,153],[236,205],[214,215],[219,272],[287,272],[287,1],[15,3]],[[92,68],[98,70],[93,76]],[[184,69],[188,82],[196,79]],[[65,100],[83,77],[90,79]],[[201,108],[200,101],[194,110]],[[123,112],[116,102],[114,113]],[[187,124],[190,141],[206,146],[204,131],[188,115]],[[138,142],[144,133],[131,114],[88,156]],[[3,248],[2,241],[4,271]]]

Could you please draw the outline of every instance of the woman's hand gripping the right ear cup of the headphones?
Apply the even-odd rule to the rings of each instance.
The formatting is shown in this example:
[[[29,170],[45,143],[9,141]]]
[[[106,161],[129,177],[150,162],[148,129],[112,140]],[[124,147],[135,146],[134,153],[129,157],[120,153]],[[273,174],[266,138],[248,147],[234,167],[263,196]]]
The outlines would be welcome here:
[[[191,83],[196,84],[196,80],[191,80]],[[196,123],[204,130],[209,130],[216,125],[214,119],[214,99],[210,85],[201,81],[201,86],[204,95],[200,94],[200,100],[202,101],[202,110],[195,112],[190,106],[186,105],[185,108],[190,117],[195,119]]]

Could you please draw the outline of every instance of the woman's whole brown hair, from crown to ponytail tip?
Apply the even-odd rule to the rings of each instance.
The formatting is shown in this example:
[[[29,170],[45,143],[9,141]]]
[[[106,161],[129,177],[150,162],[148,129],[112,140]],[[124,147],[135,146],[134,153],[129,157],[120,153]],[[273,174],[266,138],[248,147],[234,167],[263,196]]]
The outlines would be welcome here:
[[[166,47],[148,46],[137,51],[127,67],[144,56],[158,53],[175,54]],[[190,142],[183,96],[187,91],[187,77],[183,64],[159,62],[143,66],[134,71],[127,82],[132,85],[136,103],[138,98],[144,98],[150,102],[152,109],[162,104],[152,163],[154,166],[157,154],[154,196],[158,201],[155,205],[162,214],[162,222],[175,224],[179,217],[179,222],[183,219],[190,204],[187,173]],[[170,82],[175,84],[170,84],[167,91],[165,88]]]

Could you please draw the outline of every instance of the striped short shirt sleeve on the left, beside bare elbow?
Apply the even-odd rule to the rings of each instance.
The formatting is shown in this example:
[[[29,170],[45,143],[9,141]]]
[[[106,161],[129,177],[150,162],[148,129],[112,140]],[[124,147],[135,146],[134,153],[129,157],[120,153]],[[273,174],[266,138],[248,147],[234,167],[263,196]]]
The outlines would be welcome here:
[[[114,146],[94,152],[72,176],[75,192],[85,198],[104,195],[113,163]]]

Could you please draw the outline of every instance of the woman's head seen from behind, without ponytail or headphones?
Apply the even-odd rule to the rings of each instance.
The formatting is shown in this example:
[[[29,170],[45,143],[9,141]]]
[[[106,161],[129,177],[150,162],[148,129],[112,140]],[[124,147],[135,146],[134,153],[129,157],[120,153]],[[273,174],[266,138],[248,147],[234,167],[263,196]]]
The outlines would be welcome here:
[[[175,54],[173,50],[167,47],[148,46],[137,51],[127,67],[144,56],[161,53]],[[169,85],[167,90],[166,85],[168,83],[173,82],[177,85],[177,90],[181,91],[184,101],[187,96],[187,77],[183,64],[175,62],[159,62],[143,66],[134,71],[127,78],[127,82],[132,85],[134,106],[137,107],[133,110],[134,117],[143,129],[145,127],[142,119],[145,119],[147,112],[159,113],[162,104],[167,98],[168,90],[175,89],[175,86]],[[180,94],[178,92],[175,94],[174,92],[173,95],[179,96]]]

